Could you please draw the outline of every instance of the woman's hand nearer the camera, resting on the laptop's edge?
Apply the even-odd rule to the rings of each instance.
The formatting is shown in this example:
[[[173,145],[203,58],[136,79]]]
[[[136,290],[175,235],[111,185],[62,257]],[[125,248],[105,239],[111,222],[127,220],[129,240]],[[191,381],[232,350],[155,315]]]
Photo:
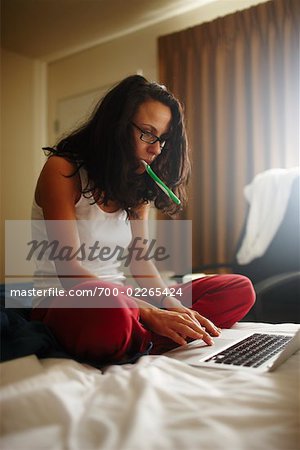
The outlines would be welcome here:
[[[202,339],[212,345],[213,339],[201,325],[186,312],[158,308],[141,308],[141,321],[151,331],[168,337],[178,345],[187,344],[187,338]]]

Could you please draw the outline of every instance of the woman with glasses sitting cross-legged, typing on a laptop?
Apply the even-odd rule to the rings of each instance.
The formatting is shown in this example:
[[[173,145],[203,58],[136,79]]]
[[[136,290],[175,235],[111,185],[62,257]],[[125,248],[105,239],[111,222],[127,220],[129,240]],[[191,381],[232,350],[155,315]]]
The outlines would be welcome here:
[[[124,278],[116,259],[82,254],[86,242],[124,248],[136,237],[146,252],[150,202],[170,215],[178,211],[141,160],[185,201],[190,166],[183,114],[165,87],[139,75],[126,78],[85,124],[48,150],[32,218],[46,220],[48,239],[59,242],[60,256],[68,248],[81,249],[81,257],[50,258],[46,252],[40,258],[37,286],[63,286],[66,294],[40,301],[32,318],[46,323],[68,352],[112,363],[147,352],[152,344],[152,353],[193,339],[211,345],[219,327],[231,327],[248,312],[254,291],[245,277],[194,280],[180,286],[178,297],[170,295],[153,260],[139,258],[131,270],[149,290],[144,301],[121,288]],[[42,221],[33,223],[39,238],[45,238]],[[81,296],[88,289],[95,293],[92,300]],[[184,306],[188,297],[191,308]]]

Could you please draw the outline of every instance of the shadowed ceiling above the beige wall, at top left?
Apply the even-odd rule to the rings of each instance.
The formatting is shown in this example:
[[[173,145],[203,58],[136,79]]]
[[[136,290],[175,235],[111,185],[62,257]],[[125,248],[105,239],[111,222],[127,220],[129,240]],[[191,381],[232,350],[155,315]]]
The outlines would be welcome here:
[[[213,1],[1,0],[1,45],[49,61]]]

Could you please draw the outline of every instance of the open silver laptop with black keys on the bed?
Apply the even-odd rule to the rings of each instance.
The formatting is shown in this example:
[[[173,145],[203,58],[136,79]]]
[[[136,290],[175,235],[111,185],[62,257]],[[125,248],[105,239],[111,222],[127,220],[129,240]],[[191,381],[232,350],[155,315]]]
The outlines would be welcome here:
[[[296,333],[226,329],[212,346],[196,340],[164,355],[196,367],[266,372],[299,349],[300,329]]]

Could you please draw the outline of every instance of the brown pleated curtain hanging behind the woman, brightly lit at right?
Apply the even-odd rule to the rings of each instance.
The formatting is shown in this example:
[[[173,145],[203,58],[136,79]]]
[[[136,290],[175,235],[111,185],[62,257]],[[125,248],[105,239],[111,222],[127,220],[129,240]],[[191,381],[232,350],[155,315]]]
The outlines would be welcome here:
[[[185,109],[193,267],[232,260],[257,173],[299,165],[299,17],[299,0],[272,0],[158,40]]]

